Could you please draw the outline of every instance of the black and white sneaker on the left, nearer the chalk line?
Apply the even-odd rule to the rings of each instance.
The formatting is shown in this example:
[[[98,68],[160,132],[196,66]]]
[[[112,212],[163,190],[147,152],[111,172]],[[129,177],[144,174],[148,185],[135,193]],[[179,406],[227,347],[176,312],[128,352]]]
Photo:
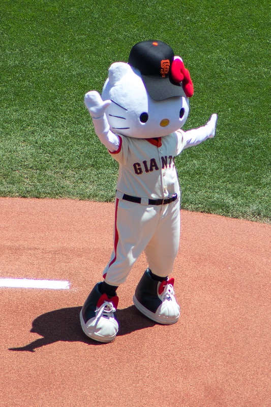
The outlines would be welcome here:
[[[118,332],[118,323],[114,312],[118,305],[117,295],[108,298],[101,294],[97,283],[88,295],[80,312],[83,332],[98,342],[111,342]]]

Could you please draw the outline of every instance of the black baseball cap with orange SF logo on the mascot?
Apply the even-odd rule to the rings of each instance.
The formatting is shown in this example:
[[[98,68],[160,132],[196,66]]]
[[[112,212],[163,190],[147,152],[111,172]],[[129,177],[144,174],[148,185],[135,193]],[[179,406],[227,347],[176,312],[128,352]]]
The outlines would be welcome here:
[[[141,41],[131,49],[128,64],[137,68],[149,96],[164,100],[173,96],[186,96],[180,83],[171,78],[173,49],[162,41]]]

